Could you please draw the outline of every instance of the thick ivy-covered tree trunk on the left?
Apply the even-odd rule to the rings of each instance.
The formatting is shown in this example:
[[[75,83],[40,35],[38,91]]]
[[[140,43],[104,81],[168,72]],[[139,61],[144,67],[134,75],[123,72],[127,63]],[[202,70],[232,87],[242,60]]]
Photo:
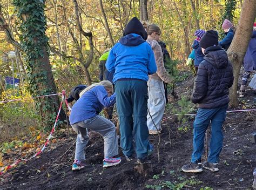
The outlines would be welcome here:
[[[57,93],[47,48],[48,38],[45,35],[44,4],[33,1],[31,6],[31,3],[23,0],[14,2],[18,13],[22,16],[19,18],[22,19],[21,31],[28,65],[30,92],[33,96]],[[55,119],[60,105],[59,97],[37,98],[36,101],[37,110],[45,127],[52,127],[52,120]],[[63,110],[59,119],[63,121],[66,119]]]

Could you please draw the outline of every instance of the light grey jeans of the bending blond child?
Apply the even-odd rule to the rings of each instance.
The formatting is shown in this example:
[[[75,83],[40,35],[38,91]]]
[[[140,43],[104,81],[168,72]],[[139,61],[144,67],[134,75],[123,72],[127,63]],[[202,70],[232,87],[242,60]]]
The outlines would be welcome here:
[[[85,148],[89,141],[87,128],[98,132],[104,138],[104,157],[118,155],[117,133],[114,124],[102,116],[95,116],[72,125],[77,132],[75,160],[85,160]]]

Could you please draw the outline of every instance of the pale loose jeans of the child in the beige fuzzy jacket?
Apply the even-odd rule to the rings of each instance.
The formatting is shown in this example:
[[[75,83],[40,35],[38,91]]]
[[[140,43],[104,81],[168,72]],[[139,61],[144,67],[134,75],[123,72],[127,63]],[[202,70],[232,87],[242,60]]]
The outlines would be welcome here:
[[[150,79],[147,85],[149,86],[147,127],[149,130],[161,130],[161,120],[165,109],[164,84],[162,80]]]

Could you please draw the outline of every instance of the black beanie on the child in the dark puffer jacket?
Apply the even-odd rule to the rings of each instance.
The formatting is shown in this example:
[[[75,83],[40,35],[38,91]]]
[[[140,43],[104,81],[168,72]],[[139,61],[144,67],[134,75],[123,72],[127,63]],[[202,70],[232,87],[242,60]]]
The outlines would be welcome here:
[[[200,40],[200,47],[201,48],[208,48],[210,46],[218,45],[219,44],[219,36],[218,32],[215,30],[208,30],[205,32],[204,36],[201,37]]]

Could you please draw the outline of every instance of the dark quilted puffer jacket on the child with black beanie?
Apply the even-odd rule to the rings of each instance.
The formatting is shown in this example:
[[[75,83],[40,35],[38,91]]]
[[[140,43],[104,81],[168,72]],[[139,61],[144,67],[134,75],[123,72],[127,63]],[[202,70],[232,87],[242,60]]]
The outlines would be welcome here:
[[[233,67],[227,53],[221,46],[211,46],[205,50],[203,62],[199,64],[191,100],[200,108],[217,108],[227,104],[228,89],[233,84]]]

